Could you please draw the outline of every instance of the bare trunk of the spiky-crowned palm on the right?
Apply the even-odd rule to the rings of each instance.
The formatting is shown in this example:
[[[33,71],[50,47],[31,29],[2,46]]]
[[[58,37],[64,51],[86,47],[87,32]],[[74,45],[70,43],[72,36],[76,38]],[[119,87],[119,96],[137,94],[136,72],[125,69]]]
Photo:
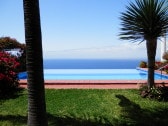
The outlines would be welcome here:
[[[148,56],[148,88],[151,89],[154,86],[154,71],[155,71],[155,56],[156,56],[156,47],[157,39],[147,40],[147,56]]]

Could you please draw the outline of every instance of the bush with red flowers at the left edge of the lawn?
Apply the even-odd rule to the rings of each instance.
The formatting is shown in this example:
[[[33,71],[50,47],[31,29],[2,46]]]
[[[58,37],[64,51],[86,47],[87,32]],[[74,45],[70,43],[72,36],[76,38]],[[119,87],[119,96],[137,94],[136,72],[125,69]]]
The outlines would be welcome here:
[[[16,89],[19,84],[17,57],[6,52],[0,52],[0,94]]]

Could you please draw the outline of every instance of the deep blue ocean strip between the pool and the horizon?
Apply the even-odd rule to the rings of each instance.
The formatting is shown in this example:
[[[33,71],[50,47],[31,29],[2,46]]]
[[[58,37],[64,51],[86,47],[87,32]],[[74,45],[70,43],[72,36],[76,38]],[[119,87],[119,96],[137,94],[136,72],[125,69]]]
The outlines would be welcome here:
[[[44,69],[135,69],[141,59],[44,59]]]

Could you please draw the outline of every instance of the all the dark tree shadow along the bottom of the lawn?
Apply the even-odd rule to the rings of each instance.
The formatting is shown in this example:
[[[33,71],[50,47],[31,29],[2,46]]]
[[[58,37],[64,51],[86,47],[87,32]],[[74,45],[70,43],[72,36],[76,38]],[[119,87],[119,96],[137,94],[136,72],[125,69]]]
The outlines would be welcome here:
[[[94,119],[83,119],[73,116],[59,116],[47,114],[49,126],[167,126],[168,109],[154,108],[143,109],[138,104],[130,101],[123,95],[116,95],[120,100],[121,116],[110,120],[96,116]],[[24,126],[27,124],[27,116],[0,115],[0,122],[10,122],[11,125]]]

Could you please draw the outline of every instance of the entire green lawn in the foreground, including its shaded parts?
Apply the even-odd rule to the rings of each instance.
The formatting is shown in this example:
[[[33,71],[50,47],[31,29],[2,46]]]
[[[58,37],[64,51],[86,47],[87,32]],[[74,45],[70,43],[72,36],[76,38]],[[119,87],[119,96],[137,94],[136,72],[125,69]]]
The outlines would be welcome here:
[[[50,126],[157,126],[168,124],[168,102],[143,99],[138,90],[46,90]],[[0,125],[24,126],[27,91],[0,101]]]

